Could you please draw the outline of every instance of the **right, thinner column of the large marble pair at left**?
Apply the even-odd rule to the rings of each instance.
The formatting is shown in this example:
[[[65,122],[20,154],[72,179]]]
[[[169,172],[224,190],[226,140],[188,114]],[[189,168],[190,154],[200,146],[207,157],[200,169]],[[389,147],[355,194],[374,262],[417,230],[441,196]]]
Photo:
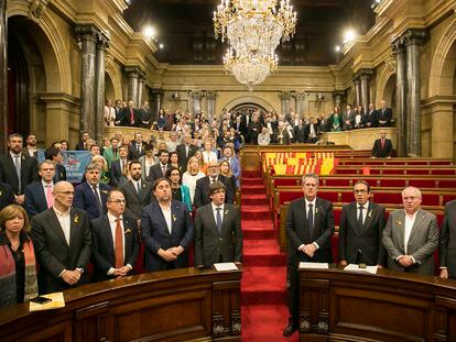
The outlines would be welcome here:
[[[95,141],[100,144],[102,143],[102,136],[105,135],[105,57],[106,49],[109,47],[109,38],[100,33],[98,35],[97,44],[97,67],[96,67],[96,114],[95,114]]]

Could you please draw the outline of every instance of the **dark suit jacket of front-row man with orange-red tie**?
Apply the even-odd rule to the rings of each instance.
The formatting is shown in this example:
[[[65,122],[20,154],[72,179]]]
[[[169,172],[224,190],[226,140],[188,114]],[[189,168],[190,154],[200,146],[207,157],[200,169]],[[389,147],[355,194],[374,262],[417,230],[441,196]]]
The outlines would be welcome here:
[[[140,251],[137,220],[123,214],[123,266],[134,267]],[[94,261],[94,282],[113,279],[108,276],[109,268],[116,268],[116,252],[113,236],[107,214],[90,221],[91,228],[91,255]],[[131,272],[129,273],[131,274]]]

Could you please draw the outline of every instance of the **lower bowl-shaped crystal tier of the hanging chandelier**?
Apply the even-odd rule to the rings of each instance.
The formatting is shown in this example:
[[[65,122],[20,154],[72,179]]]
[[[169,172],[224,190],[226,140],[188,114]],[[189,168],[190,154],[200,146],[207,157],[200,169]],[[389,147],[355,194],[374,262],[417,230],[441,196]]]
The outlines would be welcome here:
[[[276,56],[238,56],[230,48],[224,57],[225,69],[234,75],[236,79],[246,85],[249,91],[253,86],[262,84],[264,79],[278,68]]]

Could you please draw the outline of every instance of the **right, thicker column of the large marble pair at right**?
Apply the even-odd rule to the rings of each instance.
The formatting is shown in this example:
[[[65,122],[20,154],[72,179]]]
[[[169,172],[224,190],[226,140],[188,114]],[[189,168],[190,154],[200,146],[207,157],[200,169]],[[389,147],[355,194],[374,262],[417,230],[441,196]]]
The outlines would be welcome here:
[[[426,33],[411,29],[404,34],[406,49],[406,152],[421,156],[421,95],[420,95],[420,46]]]

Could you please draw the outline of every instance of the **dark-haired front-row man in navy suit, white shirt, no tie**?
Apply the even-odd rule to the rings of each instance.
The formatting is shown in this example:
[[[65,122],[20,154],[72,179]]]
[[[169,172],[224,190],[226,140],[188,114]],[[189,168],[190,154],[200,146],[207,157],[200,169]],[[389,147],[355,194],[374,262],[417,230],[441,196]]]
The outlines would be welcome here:
[[[141,212],[141,240],[148,272],[188,266],[187,250],[194,225],[185,203],[172,200],[171,181],[159,178],[152,186],[156,201]]]

